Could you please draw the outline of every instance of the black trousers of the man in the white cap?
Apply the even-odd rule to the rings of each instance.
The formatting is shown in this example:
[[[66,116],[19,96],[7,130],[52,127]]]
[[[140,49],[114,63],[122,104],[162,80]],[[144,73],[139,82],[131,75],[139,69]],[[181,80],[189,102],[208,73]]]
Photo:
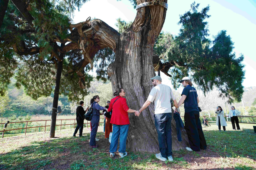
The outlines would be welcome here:
[[[184,121],[190,148],[194,151],[200,151],[200,148],[206,149],[207,145],[201,121],[199,119],[199,111],[185,113]]]

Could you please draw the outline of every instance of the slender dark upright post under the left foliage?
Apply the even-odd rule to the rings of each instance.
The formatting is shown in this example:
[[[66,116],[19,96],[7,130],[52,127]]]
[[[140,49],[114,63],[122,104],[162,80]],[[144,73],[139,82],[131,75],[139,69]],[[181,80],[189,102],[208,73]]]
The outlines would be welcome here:
[[[63,44],[61,44],[61,47]],[[56,81],[55,81],[55,89],[54,89],[54,96],[53,96],[53,108],[58,108],[58,100],[59,100],[59,91],[60,91],[60,83],[61,83],[61,71],[63,69],[63,58],[64,58],[64,53],[62,52],[60,54],[60,59],[62,61],[58,61],[58,68],[57,68],[57,73],[56,73]],[[51,126],[50,126],[50,138],[55,137],[55,126],[56,126],[56,114],[57,110],[52,109],[52,120],[51,120]]]

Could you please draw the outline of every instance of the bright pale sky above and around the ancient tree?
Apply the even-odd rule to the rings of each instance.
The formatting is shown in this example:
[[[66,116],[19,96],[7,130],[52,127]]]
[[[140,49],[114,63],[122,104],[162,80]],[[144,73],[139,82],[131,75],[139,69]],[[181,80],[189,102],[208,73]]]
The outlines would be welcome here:
[[[172,0],[168,1],[168,10],[162,31],[170,32],[173,35],[179,33],[179,15],[190,10],[190,4],[195,0]],[[234,43],[234,52],[238,57],[242,53],[245,57],[244,87],[256,86],[256,0],[198,0],[200,3],[198,11],[207,5],[210,6],[206,19],[210,38],[217,35],[219,31],[226,30]],[[136,9],[133,8],[128,0],[90,0],[86,2],[80,11],[74,13],[73,22],[85,21],[88,17],[97,18],[109,26],[117,29],[115,23],[117,18],[125,21],[134,21]],[[95,71],[95,69],[94,69]],[[90,74],[96,75],[95,72]],[[163,83],[171,83],[171,80],[161,74]]]

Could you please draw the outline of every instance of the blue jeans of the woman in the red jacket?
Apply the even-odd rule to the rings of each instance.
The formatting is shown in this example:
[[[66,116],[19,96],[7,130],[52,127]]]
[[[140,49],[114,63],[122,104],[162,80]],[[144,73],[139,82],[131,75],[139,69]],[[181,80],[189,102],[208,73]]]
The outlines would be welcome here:
[[[128,135],[129,125],[115,125],[113,124],[113,133],[111,137],[111,144],[109,152],[114,153],[117,151],[118,138],[120,136],[119,152],[125,153],[126,139]]]

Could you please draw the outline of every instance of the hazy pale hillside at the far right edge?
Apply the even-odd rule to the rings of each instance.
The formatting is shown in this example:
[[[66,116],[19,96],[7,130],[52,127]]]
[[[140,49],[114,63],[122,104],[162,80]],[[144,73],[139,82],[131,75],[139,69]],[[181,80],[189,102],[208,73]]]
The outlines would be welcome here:
[[[251,107],[252,102],[256,98],[256,87],[248,87],[244,89],[243,102],[244,106]],[[237,103],[236,106],[242,106],[242,102]]]

